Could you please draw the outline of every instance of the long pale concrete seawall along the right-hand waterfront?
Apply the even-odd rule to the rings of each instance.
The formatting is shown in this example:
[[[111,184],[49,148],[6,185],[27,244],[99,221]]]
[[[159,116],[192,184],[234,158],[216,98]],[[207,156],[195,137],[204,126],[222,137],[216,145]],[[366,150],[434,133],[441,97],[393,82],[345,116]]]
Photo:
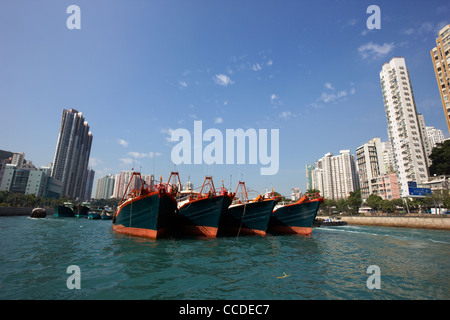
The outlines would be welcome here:
[[[433,217],[341,216],[340,218],[342,221],[354,225],[450,230],[450,217],[440,215]]]

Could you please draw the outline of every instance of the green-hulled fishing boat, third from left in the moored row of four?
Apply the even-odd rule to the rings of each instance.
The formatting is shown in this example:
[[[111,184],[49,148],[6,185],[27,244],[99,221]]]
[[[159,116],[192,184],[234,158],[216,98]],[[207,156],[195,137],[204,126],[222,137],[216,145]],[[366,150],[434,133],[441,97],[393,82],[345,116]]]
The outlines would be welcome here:
[[[279,200],[273,193],[249,200],[245,182],[239,181],[233,203],[220,219],[219,235],[265,236],[270,215]]]

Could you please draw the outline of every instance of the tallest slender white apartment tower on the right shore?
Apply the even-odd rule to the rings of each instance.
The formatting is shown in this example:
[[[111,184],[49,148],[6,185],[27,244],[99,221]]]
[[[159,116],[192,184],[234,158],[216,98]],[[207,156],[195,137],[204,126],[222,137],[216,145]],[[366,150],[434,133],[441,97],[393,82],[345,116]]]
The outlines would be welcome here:
[[[408,182],[428,179],[427,156],[408,69],[403,57],[392,58],[380,72],[394,170],[400,195],[409,195]]]

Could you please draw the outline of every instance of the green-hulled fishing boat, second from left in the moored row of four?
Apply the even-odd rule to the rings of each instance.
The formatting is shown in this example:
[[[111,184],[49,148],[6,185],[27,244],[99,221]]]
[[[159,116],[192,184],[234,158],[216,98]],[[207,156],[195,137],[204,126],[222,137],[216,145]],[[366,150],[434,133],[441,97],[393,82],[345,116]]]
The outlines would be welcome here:
[[[169,178],[178,179],[178,172],[172,172]],[[180,188],[181,189],[181,188]],[[200,236],[215,238],[223,212],[233,200],[233,194],[225,188],[216,192],[212,177],[205,177],[200,192],[180,190],[177,195],[177,212],[175,214],[175,233],[183,236]]]

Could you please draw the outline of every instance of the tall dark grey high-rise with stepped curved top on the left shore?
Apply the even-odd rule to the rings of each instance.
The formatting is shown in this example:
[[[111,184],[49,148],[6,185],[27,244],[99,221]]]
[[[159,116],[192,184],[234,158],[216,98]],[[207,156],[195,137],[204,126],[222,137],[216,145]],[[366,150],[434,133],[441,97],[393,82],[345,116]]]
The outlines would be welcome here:
[[[84,199],[92,133],[81,112],[63,110],[52,178],[62,182],[61,196]]]

